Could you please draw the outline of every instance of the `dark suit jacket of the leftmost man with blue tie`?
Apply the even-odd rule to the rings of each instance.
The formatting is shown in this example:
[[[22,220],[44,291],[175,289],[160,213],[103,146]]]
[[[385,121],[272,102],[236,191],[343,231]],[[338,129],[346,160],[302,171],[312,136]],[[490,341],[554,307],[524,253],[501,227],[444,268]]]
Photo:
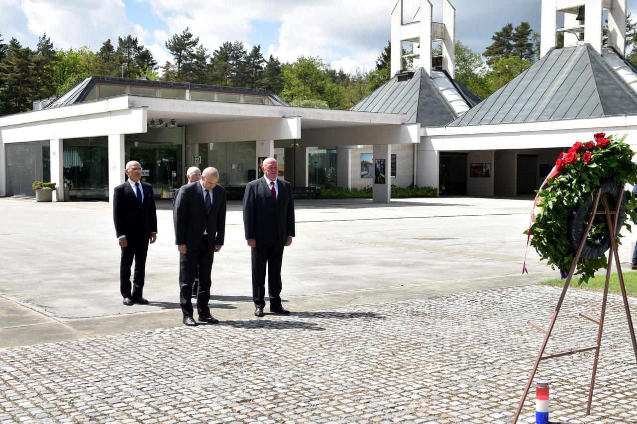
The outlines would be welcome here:
[[[150,233],[157,232],[157,209],[152,185],[140,181],[144,202],[140,206],[137,195],[126,181],[115,187],[113,192],[113,221],[115,236],[125,235],[127,239],[150,239]]]

